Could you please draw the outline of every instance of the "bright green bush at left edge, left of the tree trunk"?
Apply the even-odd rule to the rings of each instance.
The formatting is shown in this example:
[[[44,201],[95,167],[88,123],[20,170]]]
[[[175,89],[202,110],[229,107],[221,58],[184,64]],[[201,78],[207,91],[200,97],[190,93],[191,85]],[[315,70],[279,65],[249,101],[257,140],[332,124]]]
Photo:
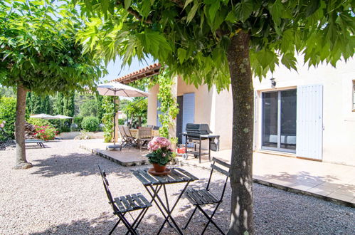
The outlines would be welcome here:
[[[14,139],[16,118],[16,99],[11,97],[0,98],[0,121],[5,121],[4,131],[9,137]],[[6,137],[0,134],[0,140],[5,140]]]

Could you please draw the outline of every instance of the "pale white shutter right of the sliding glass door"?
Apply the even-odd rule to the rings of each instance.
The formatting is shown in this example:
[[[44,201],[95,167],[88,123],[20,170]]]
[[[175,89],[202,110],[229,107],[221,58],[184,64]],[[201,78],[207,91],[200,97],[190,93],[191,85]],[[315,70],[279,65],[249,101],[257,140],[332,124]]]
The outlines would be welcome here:
[[[322,160],[323,85],[297,86],[297,157]]]

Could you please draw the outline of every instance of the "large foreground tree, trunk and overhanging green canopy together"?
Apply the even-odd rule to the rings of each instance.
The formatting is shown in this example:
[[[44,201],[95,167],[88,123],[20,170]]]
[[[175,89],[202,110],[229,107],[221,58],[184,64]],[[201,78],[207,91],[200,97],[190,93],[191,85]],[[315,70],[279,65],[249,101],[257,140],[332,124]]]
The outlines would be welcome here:
[[[79,1],[79,0],[76,0]],[[188,83],[233,94],[230,234],[253,234],[253,80],[295,53],[317,66],[354,54],[351,0],[81,0],[84,50],[105,61],[153,56]]]

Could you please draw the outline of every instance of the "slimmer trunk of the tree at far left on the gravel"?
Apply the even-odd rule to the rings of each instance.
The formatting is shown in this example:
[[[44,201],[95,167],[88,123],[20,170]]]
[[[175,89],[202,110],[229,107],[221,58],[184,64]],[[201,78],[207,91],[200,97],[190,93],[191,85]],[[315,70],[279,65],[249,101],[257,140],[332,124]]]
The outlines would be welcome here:
[[[14,169],[27,169],[32,167],[32,164],[26,161],[25,149],[26,93],[27,91],[23,88],[23,85],[18,84],[15,122],[16,166]]]

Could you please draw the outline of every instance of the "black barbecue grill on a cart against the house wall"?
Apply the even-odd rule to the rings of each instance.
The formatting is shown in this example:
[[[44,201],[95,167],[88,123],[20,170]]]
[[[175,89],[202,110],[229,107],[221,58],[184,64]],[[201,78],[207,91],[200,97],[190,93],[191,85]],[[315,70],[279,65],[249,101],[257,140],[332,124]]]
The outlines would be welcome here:
[[[183,155],[184,160],[187,159],[188,154],[198,157],[198,161],[201,163],[201,156],[208,155],[208,160],[211,161],[211,150],[219,150],[219,135],[211,135],[212,132],[208,124],[195,124],[187,123],[186,132],[182,133],[185,136],[185,149],[186,155]],[[201,142],[208,140],[208,152],[201,152]],[[191,146],[194,150],[188,150],[188,146]],[[198,147],[198,150],[197,150]]]

